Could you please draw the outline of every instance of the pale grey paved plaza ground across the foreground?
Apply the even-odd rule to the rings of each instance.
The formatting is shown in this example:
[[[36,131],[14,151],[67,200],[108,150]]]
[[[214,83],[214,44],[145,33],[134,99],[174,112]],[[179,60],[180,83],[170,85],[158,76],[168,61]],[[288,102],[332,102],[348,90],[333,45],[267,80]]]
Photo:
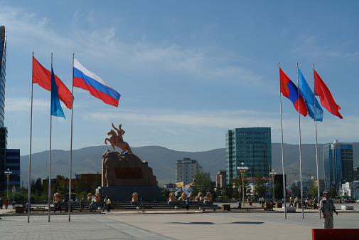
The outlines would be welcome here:
[[[336,228],[359,228],[358,212],[335,216]],[[315,212],[196,212],[114,211],[109,214],[3,216],[0,239],[311,239],[311,229],[322,228]]]

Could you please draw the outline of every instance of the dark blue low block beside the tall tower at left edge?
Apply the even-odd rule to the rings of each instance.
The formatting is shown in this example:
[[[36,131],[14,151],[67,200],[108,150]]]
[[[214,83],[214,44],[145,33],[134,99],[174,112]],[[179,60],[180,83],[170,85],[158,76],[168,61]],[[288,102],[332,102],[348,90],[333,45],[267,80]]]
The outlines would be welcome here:
[[[9,169],[11,176],[9,178],[9,189],[20,187],[20,150],[6,149],[6,169]],[[7,182],[6,182],[7,184]]]

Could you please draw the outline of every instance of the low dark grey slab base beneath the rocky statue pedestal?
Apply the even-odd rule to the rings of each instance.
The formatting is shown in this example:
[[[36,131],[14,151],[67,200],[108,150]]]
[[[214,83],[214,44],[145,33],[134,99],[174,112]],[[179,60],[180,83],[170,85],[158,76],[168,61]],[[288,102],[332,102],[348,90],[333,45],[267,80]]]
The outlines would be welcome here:
[[[109,197],[114,202],[124,202],[132,200],[132,193],[137,192],[139,199],[146,202],[161,201],[161,189],[158,186],[138,186],[138,187],[97,187],[96,193],[102,197]]]

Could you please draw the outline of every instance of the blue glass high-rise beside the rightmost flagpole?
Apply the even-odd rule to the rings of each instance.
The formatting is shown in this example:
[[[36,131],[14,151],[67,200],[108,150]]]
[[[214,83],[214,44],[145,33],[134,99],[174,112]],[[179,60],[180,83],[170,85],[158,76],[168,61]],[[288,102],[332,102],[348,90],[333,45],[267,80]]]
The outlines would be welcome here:
[[[342,183],[353,182],[353,145],[335,140],[324,145],[323,157],[326,189],[338,192]]]

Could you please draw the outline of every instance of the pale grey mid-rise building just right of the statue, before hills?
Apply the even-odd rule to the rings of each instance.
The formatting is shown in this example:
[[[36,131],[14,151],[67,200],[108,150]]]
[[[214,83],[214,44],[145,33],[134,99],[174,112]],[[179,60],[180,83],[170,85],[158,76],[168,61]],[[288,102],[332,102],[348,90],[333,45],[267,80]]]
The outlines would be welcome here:
[[[183,160],[177,160],[177,182],[184,182],[190,184],[193,182],[195,174],[203,172],[202,167],[198,164],[197,160],[185,157]]]

